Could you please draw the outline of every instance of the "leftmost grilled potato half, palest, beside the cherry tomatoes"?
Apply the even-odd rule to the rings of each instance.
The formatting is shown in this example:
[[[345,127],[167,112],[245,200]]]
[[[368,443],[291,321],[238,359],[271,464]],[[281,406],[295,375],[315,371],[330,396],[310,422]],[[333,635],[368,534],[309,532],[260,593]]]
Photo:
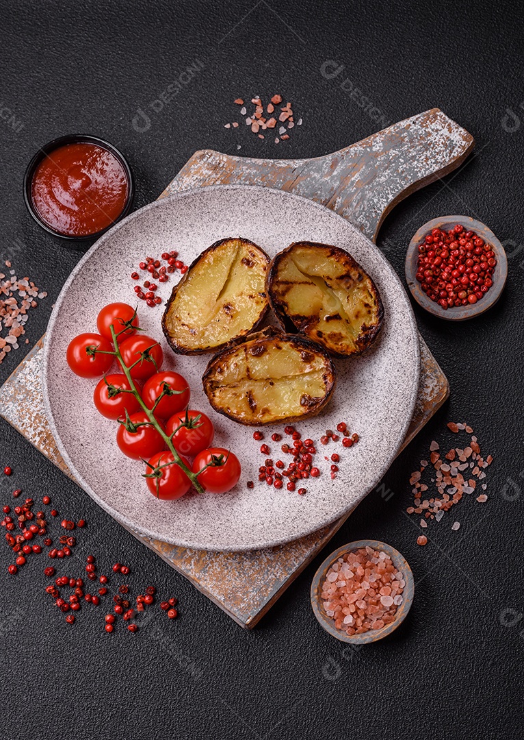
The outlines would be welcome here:
[[[174,286],[162,319],[178,354],[200,354],[242,341],[268,312],[270,259],[247,239],[222,239],[198,257]]]

